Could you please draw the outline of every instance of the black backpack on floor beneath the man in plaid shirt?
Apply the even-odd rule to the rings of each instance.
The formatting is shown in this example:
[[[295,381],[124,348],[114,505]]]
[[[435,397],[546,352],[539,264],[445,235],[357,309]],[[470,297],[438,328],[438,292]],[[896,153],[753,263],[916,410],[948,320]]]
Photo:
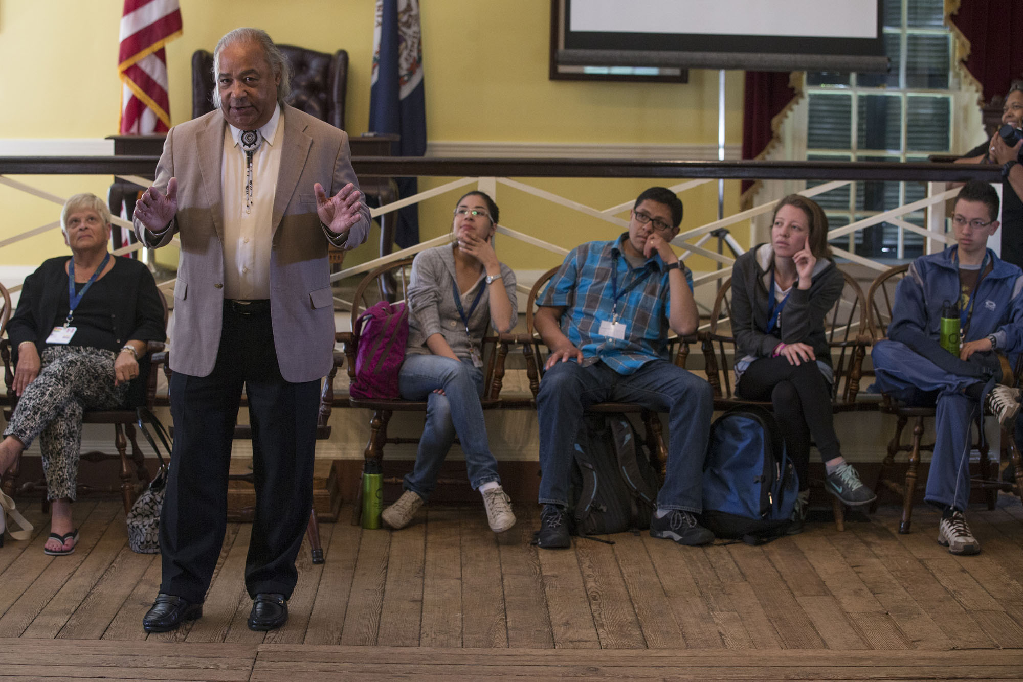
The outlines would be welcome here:
[[[605,535],[650,528],[661,485],[624,414],[584,416],[573,454],[569,491],[573,534]]]

